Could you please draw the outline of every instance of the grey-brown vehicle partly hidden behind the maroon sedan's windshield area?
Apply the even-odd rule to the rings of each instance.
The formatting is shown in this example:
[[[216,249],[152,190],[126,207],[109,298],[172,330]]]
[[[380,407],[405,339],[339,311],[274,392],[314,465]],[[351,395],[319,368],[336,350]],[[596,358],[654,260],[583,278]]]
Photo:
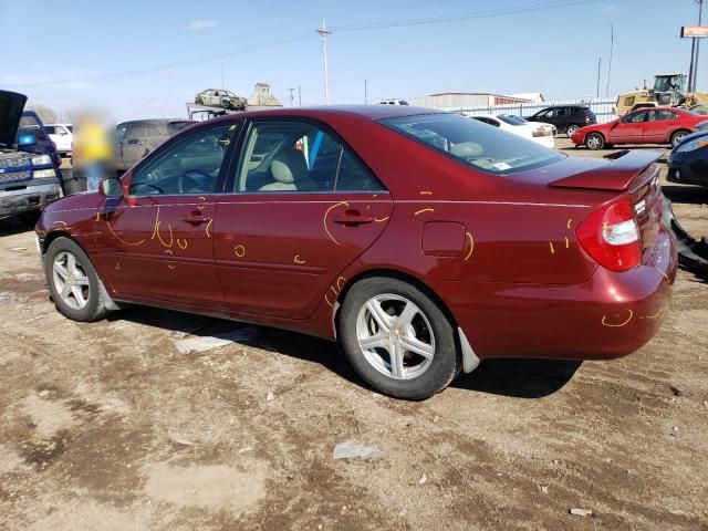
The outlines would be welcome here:
[[[126,170],[178,131],[188,119],[136,119],[116,126],[115,167]]]

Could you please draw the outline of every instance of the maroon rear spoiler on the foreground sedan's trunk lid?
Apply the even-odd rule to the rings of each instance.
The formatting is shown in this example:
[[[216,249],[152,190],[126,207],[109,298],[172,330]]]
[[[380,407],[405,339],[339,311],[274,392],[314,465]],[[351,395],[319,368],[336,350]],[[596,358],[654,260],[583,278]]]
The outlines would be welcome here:
[[[626,190],[642,173],[664,156],[664,149],[642,149],[612,153],[607,164],[582,174],[549,183],[553,188],[587,188],[593,190]]]

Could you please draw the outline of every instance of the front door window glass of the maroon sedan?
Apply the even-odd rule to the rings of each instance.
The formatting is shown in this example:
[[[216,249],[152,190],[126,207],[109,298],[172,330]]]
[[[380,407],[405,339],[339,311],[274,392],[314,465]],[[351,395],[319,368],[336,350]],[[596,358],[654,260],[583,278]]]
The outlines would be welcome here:
[[[208,127],[178,138],[133,174],[131,195],[217,192],[219,173],[237,124]]]

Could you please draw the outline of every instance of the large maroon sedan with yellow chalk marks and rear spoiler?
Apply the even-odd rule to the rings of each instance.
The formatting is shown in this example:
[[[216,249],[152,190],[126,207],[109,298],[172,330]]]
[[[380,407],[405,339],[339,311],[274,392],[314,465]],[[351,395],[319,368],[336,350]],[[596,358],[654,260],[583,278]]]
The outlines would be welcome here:
[[[419,399],[486,357],[612,358],[666,316],[658,152],[569,157],[412,106],[290,108],[178,133],[37,226],[54,303],[140,303],[339,340]]]

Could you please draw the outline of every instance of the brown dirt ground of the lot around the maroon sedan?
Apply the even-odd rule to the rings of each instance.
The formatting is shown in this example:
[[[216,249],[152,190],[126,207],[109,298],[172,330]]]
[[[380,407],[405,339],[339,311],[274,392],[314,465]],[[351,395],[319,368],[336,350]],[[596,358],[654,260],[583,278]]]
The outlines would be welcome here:
[[[666,192],[708,235],[708,191]],[[292,333],[139,308],[70,322],[32,232],[0,222],[0,529],[708,530],[707,294],[681,271],[623,360],[485,362],[406,403]],[[381,455],[334,460],[344,441]]]

